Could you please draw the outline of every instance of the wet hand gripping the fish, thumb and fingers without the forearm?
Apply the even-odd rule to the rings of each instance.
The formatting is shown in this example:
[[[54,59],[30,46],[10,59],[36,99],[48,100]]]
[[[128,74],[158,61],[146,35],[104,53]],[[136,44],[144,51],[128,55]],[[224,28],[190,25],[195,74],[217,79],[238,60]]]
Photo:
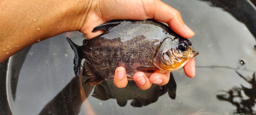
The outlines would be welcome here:
[[[194,35],[193,31],[182,21],[180,13],[159,0],[95,0],[90,3],[90,6],[87,15],[83,17],[85,21],[80,29],[89,39],[102,33],[102,31],[92,33],[94,27],[114,19],[146,20],[153,18],[160,22],[166,22],[173,31],[184,38]],[[184,66],[184,72],[188,77],[195,75],[194,58]],[[148,79],[144,73],[137,72],[133,79],[141,89],[146,90],[152,83],[167,84],[169,75],[170,73],[153,73]],[[114,84],[123,88],[127,83],[125,69],[118,67],[115,72]]]

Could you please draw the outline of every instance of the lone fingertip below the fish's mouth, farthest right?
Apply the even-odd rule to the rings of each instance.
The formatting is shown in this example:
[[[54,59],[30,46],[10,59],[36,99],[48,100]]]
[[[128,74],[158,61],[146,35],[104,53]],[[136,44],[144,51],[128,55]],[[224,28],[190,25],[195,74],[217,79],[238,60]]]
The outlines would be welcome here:
[[[188,63],[183,67],[186,76],[194,77],[195,76],[195,59],[194,57],[189,60]]]

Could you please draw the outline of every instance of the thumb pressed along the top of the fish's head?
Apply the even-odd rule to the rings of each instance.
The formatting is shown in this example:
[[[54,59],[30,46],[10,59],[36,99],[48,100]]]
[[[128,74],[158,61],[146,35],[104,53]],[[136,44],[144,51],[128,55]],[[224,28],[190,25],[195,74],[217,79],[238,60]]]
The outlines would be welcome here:
[[[162,1],[155,2],[155,10],[145,9],[147,15],[155,20],[166,22],[169,27],[184,38],[191,38],[195,33],[184,24],[180,12]]]

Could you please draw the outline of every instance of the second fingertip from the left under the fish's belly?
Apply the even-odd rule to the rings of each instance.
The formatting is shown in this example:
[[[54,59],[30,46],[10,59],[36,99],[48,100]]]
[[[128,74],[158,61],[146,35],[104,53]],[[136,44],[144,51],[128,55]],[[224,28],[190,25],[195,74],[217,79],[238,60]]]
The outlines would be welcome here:
[[[149,82],[148,77],[143,72],[135,73],[133,75],[133,80],[142,90],[146,90],[152,85],[152,83]]]

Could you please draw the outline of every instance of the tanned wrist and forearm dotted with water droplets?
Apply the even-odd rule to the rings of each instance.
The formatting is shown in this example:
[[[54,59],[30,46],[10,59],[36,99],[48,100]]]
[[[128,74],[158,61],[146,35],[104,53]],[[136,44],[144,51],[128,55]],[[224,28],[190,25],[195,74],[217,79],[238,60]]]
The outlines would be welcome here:
[[[2,1],[0,62],[38,41],[67,31],[80,30],[83,16],[90,9],[90,2],[91,0]]]

